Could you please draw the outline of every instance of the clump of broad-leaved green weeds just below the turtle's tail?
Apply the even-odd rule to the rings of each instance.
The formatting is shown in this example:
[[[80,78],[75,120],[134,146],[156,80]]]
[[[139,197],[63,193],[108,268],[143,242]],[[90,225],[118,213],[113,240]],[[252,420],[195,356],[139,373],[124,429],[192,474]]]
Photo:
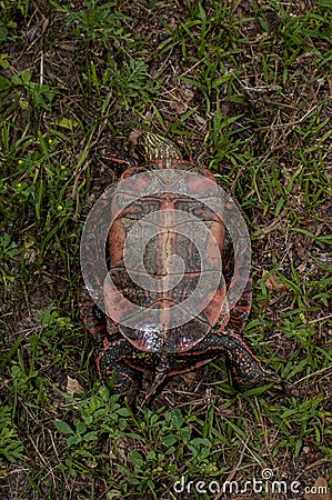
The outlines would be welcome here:
[[[137,490],[142,494],[150,491],[155,498],[160,482],[178,479],[177,461],[181,458],[185,460],[189,476],[205,477],[217,472],[218,468],[211,469],[210,463],[212,441],[193,436],[195,417],[160,409],[157,412],[144,410],[138,418],[128,408],[121,408],[118,400],[118,396],[110,396],[108,389],[100,388],[89,399],[76,401],[78,416],[72,426],[66,421],[54,422],[69,447],[67,458],[59,466],[61,470],[77,474],[85,468],[102,467],[110,474],[109,488],[113,494],[125,496]],[[105,452],[98,452],[102,441],[111,446],[111,456],[117,459],[114,464]],[[132,449],[128,448],[129,442]],[[111,471],[118,471],[125,480],[113,481]]]

